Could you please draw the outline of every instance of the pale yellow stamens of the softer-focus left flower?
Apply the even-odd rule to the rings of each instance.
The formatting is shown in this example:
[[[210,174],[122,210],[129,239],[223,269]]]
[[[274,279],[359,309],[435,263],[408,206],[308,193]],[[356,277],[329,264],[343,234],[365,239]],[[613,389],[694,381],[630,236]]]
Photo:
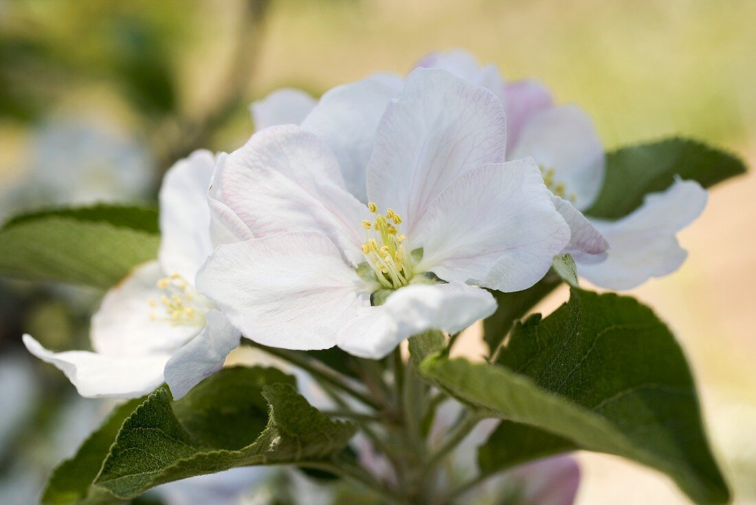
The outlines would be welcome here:
[[[160,316],[155,310],[150,310],[150,319],[168,321],[173,326],[205,325],[204,297],[178,273],[157,281],[157,288],[163,294],[158,300],[150,299],[147,303],[153,309],[162,307],[164,315]]]

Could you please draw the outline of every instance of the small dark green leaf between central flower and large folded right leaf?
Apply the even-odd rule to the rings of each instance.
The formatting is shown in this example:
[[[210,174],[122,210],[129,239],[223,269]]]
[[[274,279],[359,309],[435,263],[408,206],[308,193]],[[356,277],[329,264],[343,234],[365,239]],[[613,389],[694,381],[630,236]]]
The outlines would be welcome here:
[[[483,321],[483,338],[488,344],[488,349],[491,352],[495,351],[510,332],[513,323],[525,316],[535,307],[535,304],[546,298],[562,282],[562,277],[551,270],[543,279],[525,291],[516,293],[491,291],[491,295],[496,298],[497,309]]]

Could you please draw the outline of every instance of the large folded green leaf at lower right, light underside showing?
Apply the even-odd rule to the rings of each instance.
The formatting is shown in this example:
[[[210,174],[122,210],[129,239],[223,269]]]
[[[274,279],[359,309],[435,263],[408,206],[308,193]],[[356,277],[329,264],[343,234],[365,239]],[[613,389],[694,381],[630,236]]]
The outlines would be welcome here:
[[[573,288],[519,323],[495,364],[435,355],[420,369],[474,407],[665,472],[699,503],[729,500],[685,357],[633,298]]]

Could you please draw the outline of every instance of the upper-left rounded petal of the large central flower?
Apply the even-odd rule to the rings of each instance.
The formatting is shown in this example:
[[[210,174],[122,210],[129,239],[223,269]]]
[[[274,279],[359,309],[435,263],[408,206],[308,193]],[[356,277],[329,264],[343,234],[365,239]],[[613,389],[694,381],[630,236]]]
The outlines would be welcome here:
[[[327,145],[298,126],[271,126],[229,154],[220,172],[222,201],[255,237],[321,232],[356,263],[370,217],[346,191]]]

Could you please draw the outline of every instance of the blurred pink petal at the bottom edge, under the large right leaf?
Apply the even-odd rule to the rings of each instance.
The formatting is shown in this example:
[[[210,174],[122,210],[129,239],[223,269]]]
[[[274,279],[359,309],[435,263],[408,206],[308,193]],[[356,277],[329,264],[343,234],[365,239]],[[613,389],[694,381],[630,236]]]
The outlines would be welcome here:
[[[568,456],[520,466],[507,475],[522,505],[572,505],[580,486],[580,466]]]

